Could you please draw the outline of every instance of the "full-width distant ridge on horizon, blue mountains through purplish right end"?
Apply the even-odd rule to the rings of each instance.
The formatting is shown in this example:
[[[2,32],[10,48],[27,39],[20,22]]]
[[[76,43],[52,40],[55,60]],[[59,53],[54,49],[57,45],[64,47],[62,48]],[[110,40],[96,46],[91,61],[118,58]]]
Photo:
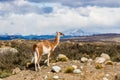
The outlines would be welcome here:
[[[86,32],[82,29],[68,29],[65,31],[62,31],[62,33],[65,34],[64,37],[61,37],[62,39],[81,39],[84,37],[84,39],[88,39],[91,41],[94,38],[100,39],[100,38],[113,38],[113,37],[120,37],[120,34],[118,33],[96,33],[96,32]],[[51,35],[20,35],[20,34],[1,34],[0,40],[13,40],[13,39],[25,39],[25,40],[44,40],[44,39],[54,39],[55,34]]]

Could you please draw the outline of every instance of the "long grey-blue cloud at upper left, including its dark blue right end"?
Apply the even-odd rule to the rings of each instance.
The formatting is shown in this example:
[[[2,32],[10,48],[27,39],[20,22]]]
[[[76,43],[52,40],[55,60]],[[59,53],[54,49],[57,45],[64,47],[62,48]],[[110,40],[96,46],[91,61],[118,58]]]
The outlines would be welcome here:
[[[22,3],[22,5],[18,5],[17,2],[9,2],[9,3],[0,3],[0,16],[9,15],[11,13],[14,14],[27,14],[27,13],[37,13],[37,14],[48,14],[53,11],[52,7],[44,6],[38,7],[36,5]]]

